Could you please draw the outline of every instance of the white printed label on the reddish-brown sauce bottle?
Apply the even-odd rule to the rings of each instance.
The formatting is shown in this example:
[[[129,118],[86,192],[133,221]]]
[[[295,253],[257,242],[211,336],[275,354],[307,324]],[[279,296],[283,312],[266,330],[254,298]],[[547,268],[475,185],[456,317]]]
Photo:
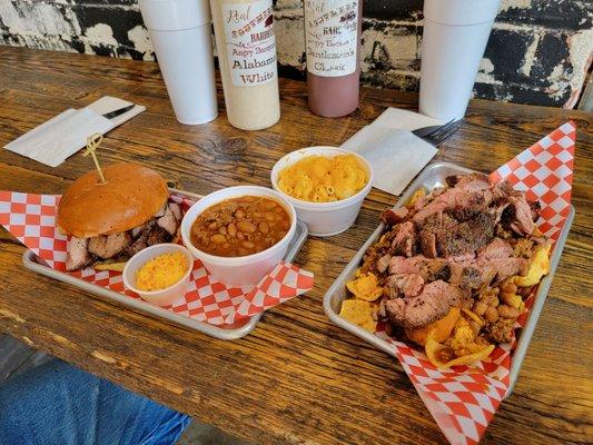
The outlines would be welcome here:
[[[356,71],[358,1],[305,0],[307,71],[323,77]]]

